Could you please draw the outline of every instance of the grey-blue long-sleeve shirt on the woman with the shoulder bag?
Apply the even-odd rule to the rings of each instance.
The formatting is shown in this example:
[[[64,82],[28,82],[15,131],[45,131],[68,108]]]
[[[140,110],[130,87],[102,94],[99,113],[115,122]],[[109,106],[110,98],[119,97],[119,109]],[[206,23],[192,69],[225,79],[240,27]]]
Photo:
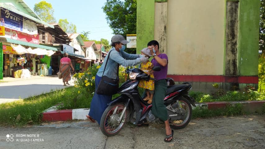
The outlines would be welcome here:
[[[112,52],[110,52],[112,51]],[[102,77],[104,67],[106,65],[107,57],[110,54],[110,58],[108,60],[108,63],[106,65],[106,70],[104,72],[104,75],[106,75],[109,78],[116,79],[117,78],[117,65],[123,65],[123,66],[135,66],[137,64],[141,63],[141,60],[139,58],[139,54],[129,54],[124,51],[116,51],[115,47],[112,47],[110,49],[109,53],[107,54],[103,64],[99,68],[97,75]]]

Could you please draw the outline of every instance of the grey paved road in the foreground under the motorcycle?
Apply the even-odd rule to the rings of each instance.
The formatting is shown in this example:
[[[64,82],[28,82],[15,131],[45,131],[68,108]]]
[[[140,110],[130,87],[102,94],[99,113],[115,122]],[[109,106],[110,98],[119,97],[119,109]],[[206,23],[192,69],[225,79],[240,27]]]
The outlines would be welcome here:
[[[98,124],[86,121],[30,128],[0,127],[0,149],[261,149],[265,148],[264,121],[265,115],[195,119],[186,128],[175,130],[170,143],[163,141],[163,124],[151,124],[149,127],[127,124],[113,137],[104,136]],[[7,142],[7,134],[13,134],[13,142]],[[18,134],[36,136],[24,137]],[[39,142],[31,139],[39,139]]]

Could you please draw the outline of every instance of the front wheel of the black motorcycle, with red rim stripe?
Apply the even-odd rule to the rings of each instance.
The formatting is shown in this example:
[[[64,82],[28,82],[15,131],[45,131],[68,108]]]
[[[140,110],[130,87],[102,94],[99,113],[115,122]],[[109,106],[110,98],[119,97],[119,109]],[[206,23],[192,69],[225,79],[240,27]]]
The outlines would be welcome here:
[[[126,118],[128,117],[128,110],[126,110],[119,122],[124,108],[125,106],[122,103],[108,106],[106,108],[100,120],[100,128],[103,134],[109,137],[114,136],[121,131],[126,122]]]

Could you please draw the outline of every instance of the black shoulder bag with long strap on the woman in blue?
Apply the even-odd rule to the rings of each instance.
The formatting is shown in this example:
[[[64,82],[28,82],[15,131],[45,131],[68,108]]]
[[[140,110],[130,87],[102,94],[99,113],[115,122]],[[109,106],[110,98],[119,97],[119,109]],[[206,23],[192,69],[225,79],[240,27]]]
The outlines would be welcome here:
[[[100,94],[100,95],[114,95],[117,93],[117,91],[119,89],[119,77],[118,77],[118,75],[119,75],[119,64],[117,67],[117,79],[112,79],[112,78],[109,78],[106,75],[104,75],[106,66],[108,64],[108,60],[110,58],[110,52],[109,52],[109,55],[108,55],[108,58],[106,61],[106,65],[105,65],[105,68],[104,68],[104,71],[102,74],[102,79],[97,86],[96,93]]]

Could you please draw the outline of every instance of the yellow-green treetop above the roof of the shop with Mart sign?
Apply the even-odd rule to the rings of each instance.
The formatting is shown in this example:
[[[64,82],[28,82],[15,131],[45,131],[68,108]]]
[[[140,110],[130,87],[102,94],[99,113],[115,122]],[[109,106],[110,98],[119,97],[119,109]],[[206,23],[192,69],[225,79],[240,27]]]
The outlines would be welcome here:
[[[45,22],[47,23],[55,23],[56,19],[53,16],[54,9],[52,8],[52,4],[47,3],[46,1],[41,1],[34,5],[35,13]]]

